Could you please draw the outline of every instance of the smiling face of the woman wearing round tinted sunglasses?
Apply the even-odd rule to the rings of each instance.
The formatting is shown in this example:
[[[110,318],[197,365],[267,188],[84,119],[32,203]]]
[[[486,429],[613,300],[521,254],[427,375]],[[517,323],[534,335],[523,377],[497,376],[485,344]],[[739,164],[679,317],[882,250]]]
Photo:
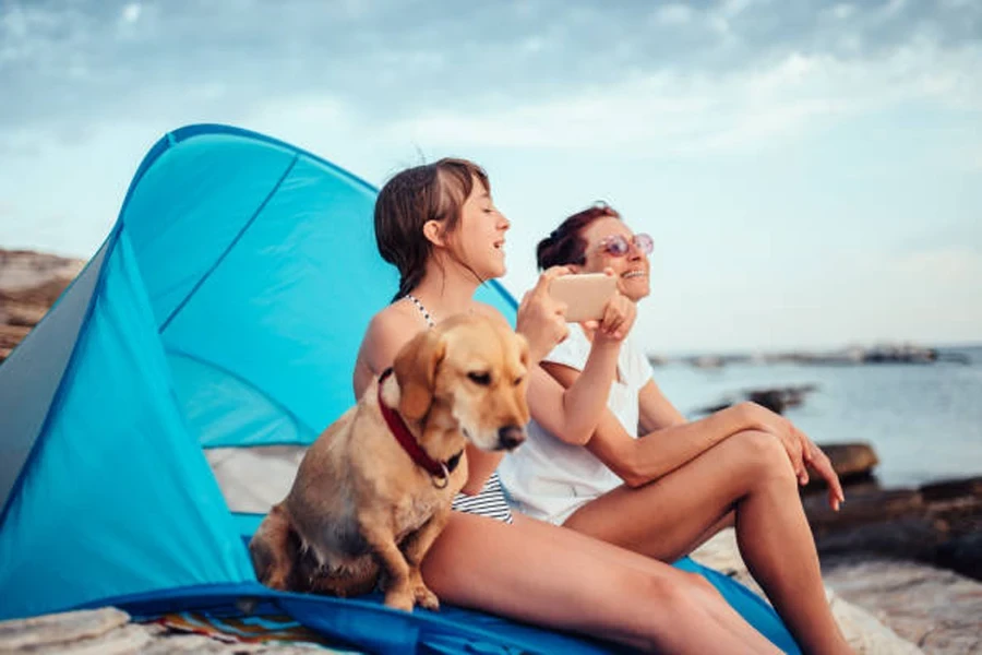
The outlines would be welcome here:
[[[650,293],[648,255],[634,242],[634,233],[623,221],[613,216],[598,218],[586,226],[579,236],[587,242],[586,263],[579,267],[582,273],[601,273],[604,269],[613,269],[618,289],[635,302]],[[608,249],[610,241],[616,237],[627,242],[627,252],[620,257]]]

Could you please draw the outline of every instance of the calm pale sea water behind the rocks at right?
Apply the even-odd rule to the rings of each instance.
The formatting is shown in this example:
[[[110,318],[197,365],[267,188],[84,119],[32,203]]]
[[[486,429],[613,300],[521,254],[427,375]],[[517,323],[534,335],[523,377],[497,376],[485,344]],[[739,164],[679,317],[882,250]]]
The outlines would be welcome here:
[[[814,384],[785,416],[816,443],[866,441],[885,487],[982,476],[982,346],[939,348],[968,364],[825,366],[731,364],[655,367],[662,392],[690,418],[747,389]]]

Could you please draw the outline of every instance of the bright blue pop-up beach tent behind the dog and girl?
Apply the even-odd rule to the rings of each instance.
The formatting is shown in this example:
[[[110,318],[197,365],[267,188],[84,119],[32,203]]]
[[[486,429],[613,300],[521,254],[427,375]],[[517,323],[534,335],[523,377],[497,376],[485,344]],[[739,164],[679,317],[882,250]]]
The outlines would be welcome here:
[[[187,127],[151,150],[99,251],[0,366],[0,619],[248,598],[369,651],[608,651],[256,582],[243,537],[258,516],[229,510],[204,452],[309,444],[354,402],[358,344],[396,288],[374,196],[233,128]],[[501,286],[480,293],[514,317]]]

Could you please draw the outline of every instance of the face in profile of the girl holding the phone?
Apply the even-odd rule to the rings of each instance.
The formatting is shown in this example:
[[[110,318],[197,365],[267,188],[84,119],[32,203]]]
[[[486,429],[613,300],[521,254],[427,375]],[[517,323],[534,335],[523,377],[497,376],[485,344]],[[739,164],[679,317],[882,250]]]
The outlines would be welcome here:
[[[474,178],[474,187],[460,207],[460,221],[451,239],[460,260],[481,279],[505,274],[504,234],[511,225],[494,206],[484,184]]]

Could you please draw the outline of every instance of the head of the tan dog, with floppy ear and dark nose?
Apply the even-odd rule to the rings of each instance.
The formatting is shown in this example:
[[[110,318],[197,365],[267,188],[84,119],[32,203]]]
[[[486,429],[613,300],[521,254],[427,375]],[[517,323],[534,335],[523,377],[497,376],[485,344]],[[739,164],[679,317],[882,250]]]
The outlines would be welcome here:
[[[528,422],[528,344],[504,322],[457,315],[420,333],[396,356],[399,413],[426,429],[459,427],[482,450],[511,450]]]

